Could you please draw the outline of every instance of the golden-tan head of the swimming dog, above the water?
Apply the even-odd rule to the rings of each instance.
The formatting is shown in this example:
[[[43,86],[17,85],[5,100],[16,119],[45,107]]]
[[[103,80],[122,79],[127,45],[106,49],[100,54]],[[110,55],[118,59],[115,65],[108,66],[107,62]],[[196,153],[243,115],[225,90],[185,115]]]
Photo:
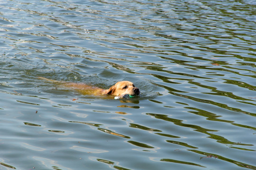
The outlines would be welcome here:
[[[108,90],[105,90],[104,93],[115,95],[115,96],[119,96],[122,94],[139,95],[139,89],[135,87],[132,82],[121,81],[121,82],[117,82]]]

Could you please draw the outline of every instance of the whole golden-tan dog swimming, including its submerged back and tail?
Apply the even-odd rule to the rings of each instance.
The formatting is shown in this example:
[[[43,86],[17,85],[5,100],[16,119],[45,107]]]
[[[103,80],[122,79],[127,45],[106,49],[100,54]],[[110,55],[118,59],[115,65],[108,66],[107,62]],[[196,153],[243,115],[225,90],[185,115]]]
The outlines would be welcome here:
[[[71,82],[63,82],[56,81],[52,79],[48,79],[45,77],[38,77],[39,79],[43,79],[49,82],[53,82],[59,85],[63,85],[65,87],[72,88],[84,95],[105,95],[110,94],[114,96],[120,96],[124,94],[129,94],[131,96],[139,95],[140,91],[134,84],[130,81],[120,81],[115,85],[112,85],[109,89],[102,89],[99,87],[83,84],[83,83],[71,83]]]

